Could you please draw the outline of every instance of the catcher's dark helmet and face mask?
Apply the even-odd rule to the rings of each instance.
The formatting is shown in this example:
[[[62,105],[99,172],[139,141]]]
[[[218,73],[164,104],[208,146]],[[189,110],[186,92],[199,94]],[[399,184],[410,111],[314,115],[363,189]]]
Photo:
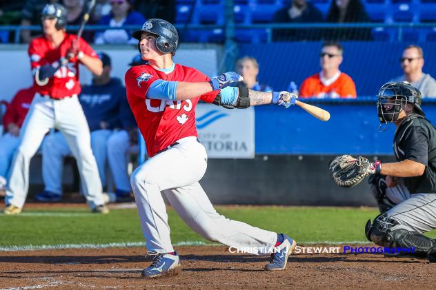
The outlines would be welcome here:
[[[410,83],[403,81],[399,83],[385,83],[379,90],[377,101],[377,113],[379,115],[379,131],[384,131],[387,123],[395,123],[398,115],[403,110],[403,105],[412,103],[415,111],[424,116],[421,109],[421,92]],[[384,125],[384,126],[382,126]],[[380,130],[383,127],[383,130]]]

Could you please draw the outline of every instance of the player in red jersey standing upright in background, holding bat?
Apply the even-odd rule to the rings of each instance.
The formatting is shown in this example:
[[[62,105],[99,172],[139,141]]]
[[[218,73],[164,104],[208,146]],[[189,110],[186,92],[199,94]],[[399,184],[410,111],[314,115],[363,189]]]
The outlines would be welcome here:
[[[60,4],[47,4],[42,11],[43,36],[29,45],[30,64],[36,94],[20,133],[6,191],[5,214],[19,214],[29,183],[30,158],[50,128],[65,136],[83,180],[83,194],[93,212],[106,214],[101,182],[90,146],[90,132],[77,99],[79,63],[101,74],[102,65],[94,50],[65,30],[67,11]]]

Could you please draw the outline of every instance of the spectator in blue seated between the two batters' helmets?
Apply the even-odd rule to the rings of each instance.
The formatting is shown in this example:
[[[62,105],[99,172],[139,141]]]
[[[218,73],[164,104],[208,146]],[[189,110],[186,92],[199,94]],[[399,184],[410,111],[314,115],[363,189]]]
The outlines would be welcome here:
[[[110,0],[110,6],[112,11],[101,17],[99,25],[121,28],[124,25],[142,25],[146,21],[141,13],[133,10],[132,0]],[[106,30],[96,34],[95,44],[138,43],[137,39],[131,37],[131,34],[131,32],[122,29]]]

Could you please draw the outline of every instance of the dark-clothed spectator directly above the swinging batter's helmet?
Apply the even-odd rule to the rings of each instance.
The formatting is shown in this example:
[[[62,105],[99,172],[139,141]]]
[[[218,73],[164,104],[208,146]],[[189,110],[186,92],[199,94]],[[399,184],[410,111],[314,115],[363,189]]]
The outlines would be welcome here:
[[[174,23],[176,19],[175,0],[135,1],[135,10],[141,12],[146,19],[159,18],[169,23]]]

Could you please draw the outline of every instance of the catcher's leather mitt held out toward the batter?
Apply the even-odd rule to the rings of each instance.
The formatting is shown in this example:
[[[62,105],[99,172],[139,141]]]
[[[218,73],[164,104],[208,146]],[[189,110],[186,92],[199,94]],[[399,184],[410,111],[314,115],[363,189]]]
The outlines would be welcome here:
[[[379,173],[381,163],[379,160],[369,162],[368,158],[350,155],[337,156],[330,163],[330,172],[333,180],[340,187],[353,187],[370,174]]]

